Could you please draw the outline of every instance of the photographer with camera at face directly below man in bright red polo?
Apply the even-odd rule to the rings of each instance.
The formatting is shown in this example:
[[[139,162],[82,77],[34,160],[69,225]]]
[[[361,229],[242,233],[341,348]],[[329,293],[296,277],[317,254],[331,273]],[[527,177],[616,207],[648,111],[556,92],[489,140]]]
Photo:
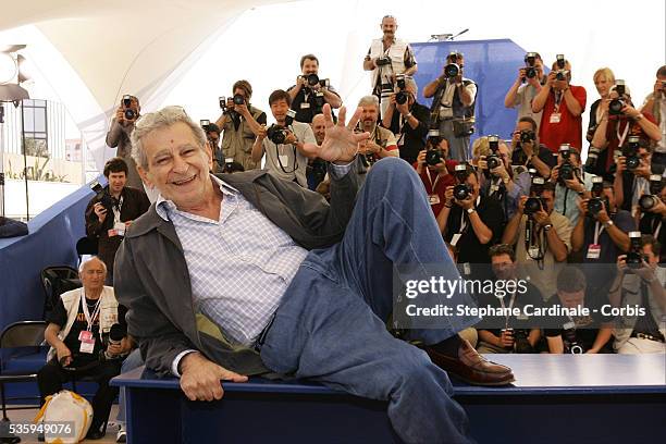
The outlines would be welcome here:
[[[557,163],[553,152],[539,143],[536,122],[532,118],[520,118],[511,133],[511,164],[533,168],[540,176],[548,177]]]

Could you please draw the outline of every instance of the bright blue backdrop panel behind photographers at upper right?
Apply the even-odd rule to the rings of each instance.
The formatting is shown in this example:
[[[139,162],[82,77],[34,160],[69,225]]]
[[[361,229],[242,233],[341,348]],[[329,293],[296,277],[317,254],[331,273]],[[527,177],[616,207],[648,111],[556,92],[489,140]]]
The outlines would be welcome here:
[[[504,96],[515,82],[518,67],[525,65],[525,49],[509,39],[410,45],[419,64],[415,75],[419,86],[419,103],[430,107],[432,99],[423,98],[423,88],[442,74],[449,52],[462,52],[464,75],[478,85],[477,131],[472,139],[489,134],[498,134],[505,139],[510,138],[518,114],[514,109],[504,108]]]

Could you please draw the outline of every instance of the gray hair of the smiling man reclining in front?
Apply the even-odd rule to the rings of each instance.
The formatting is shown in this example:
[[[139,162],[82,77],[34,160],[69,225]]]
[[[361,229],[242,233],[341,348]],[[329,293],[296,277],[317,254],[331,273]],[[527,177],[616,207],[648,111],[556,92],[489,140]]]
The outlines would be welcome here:
[[[201,149],[206,146],[206,133],[187,115],[182,107],[165,107],[156,112],[141,115],[132,132],[132,158],[137,165],[148,170],[148,157],[144,149],[143,138],[153,131],[165,128],[182,122],[189,126]]]

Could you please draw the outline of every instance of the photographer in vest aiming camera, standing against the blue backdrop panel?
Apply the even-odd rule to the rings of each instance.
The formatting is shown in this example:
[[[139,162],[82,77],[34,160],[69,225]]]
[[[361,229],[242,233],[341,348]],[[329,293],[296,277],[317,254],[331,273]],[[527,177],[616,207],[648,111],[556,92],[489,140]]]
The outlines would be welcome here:
[[[474,132],[477,84],[462,77],[465,59],[460,52],[446,58],[442,75],[423,88],[423,97],[433,97],[431,124],[439,125],[440,135],[448,140],[452,159],[469,159],[469,136]]]

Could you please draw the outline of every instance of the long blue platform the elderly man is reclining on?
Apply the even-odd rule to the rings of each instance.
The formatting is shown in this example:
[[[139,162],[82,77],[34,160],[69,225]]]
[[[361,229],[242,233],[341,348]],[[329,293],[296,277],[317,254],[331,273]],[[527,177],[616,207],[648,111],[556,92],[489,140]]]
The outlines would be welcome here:
[[[479,443],[629,444],[666,436],[664,355],[492,358],[514,369],[514,385],[455,384],[455,398]],[[205,403],[188,400],[175,378],[157,379],[143,368],[112,383],[127,390],[128,442],[134,444],[400,442],[386,403],[319,384],[224,383],[224,398]]]

